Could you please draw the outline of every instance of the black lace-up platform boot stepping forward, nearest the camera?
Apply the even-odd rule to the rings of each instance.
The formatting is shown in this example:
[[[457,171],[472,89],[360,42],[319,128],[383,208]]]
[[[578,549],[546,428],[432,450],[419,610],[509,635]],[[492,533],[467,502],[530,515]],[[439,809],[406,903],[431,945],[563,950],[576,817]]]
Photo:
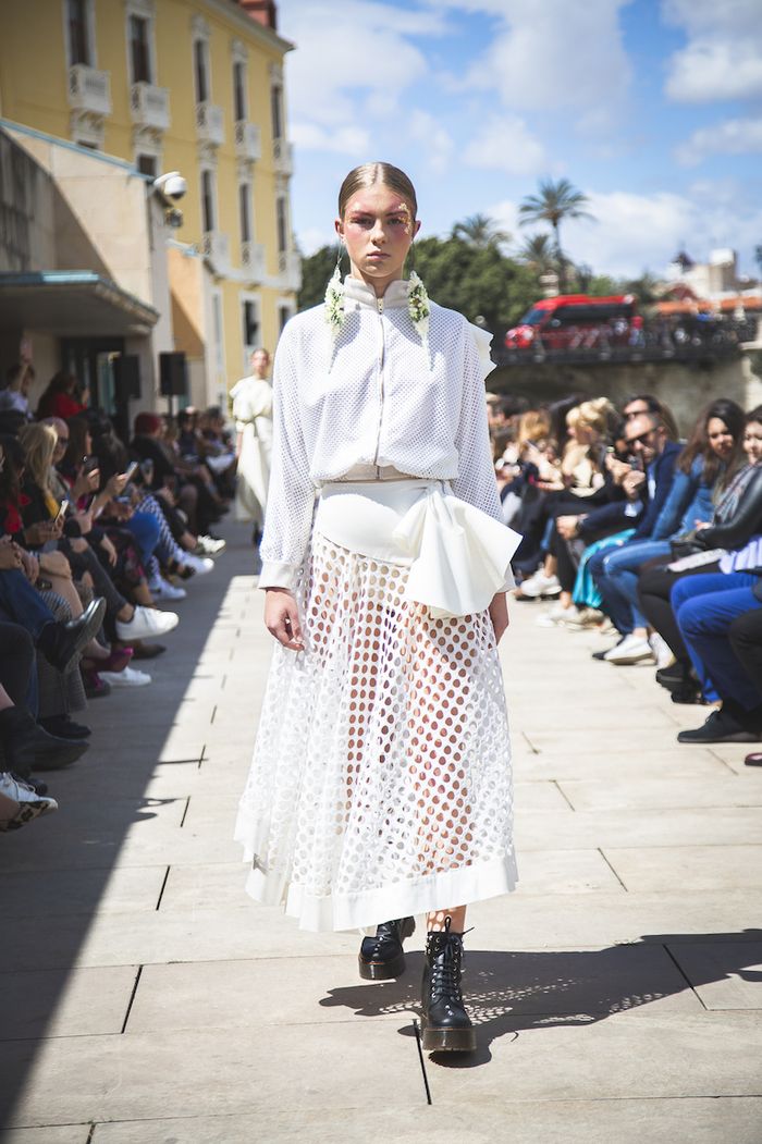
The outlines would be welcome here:
[[[463,935],[450,932],[445,917],[440,932],[430,932],[426,943],[421,1003],[424,1052],[474,1052],[476,1030],[463,1007],[460,992]]]

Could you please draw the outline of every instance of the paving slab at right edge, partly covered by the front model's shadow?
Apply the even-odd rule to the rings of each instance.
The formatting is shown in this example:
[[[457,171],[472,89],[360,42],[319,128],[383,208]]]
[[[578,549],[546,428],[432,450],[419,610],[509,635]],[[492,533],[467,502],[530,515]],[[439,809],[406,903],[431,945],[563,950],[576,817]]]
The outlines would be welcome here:
[[[707,1009],[762,1009],[762,942],[669,946]]]

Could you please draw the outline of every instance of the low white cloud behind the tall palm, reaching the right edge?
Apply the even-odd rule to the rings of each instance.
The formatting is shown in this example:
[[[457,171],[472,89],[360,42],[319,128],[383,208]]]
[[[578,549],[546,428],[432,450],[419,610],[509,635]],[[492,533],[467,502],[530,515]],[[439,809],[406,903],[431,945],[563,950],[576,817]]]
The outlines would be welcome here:
[[[762,208],[743,202],[730,186],[697,184],[686,194],[586,193],[596,222],[562,223],[561,243],[574,262],[588,263],[597,273],[627,277],[644,268],[661,273],[680,247],[701,261],[716,246],[751,251],[762,232]],[[514,235],[522,233],[517,202],[498,202],[486,213]]]

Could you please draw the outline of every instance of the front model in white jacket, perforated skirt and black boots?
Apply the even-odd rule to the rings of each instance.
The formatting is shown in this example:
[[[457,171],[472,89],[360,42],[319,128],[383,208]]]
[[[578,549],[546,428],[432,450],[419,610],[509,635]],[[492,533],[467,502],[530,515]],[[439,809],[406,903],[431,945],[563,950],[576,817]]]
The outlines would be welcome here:
[[[278,345],[260,578],[278,643],[236,837],[255,899],[373,931],[364,978],[403,972],[426,914],[423,1047],[470,1051],[465,903],[516,881],[497,645],[519,538],[498,523],[484,335],[403,280],[416,214],[398,168],[351,172],[350,273]]]

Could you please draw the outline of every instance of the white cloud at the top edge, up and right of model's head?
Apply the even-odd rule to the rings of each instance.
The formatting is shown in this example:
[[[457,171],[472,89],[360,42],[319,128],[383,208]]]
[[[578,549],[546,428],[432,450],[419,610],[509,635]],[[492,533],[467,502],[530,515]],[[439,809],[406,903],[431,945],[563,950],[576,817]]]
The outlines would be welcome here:
[[[605,112],[613,112],[632,78],[618,22],[627,2],[450,0],[451,8],[481,9],[502,18],[490,48],[468,70],[467,82],[497,89],[510,109],[581,109],[608,122]]]

